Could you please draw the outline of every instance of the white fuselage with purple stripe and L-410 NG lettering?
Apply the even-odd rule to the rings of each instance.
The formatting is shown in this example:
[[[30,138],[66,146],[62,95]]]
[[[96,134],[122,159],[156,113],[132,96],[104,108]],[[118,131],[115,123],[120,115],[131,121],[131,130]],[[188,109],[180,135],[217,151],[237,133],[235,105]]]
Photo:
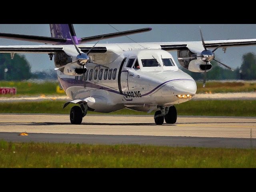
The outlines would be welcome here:
[[[196,94],[194,79],[178,69],[172,55],[164,50],[92,54],[90,58],[94,63],[86,64],[88,70],[83,76],[60,71],[57,74],[70,99],[93,97],[95,101],[88,102],[88,106],[96,112],[122,108],[150,112],[157,106],[172,106],[191,99],[177,95]]]

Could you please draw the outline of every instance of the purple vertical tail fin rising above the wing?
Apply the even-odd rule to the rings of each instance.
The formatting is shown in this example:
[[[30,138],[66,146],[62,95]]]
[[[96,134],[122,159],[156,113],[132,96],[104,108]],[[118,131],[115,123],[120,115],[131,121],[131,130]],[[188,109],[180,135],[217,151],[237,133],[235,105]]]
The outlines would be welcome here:
[[[50,24],[50,31],[52,37],[66,39],[73,38],[74,42],[78,44],[73,24]]]

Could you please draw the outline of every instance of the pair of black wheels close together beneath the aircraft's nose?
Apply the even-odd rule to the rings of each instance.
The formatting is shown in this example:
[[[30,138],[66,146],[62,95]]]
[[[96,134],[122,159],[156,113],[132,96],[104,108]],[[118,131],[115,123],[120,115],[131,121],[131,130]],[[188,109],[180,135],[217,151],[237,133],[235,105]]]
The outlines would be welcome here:
[[[157,125],[162,125],[164,123],[164,120],[167,124],[174,124],[177,120],[177,111],[174,106],[170,107],[164,107],[164,106],[158,106],[160,110],[155,112],[155,123]]]

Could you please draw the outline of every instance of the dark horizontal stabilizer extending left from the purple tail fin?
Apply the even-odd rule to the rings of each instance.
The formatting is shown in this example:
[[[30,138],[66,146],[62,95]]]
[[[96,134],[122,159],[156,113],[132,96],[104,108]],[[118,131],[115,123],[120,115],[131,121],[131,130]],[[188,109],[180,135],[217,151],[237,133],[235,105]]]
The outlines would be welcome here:
[[[37,43],[47,43],[47,44],[65,43],[67,41],[67,39],[64,39],[64,38],[44,37],[44,36],[34,36],[34,35],[19,35],[19,34],[10,34],[10,33],[0,33],[0,38],[37,42]]]

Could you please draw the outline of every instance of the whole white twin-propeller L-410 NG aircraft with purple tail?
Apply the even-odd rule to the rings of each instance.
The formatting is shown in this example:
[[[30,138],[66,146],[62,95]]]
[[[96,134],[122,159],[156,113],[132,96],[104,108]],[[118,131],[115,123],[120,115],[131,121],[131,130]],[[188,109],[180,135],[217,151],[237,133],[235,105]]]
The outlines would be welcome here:
[[[54,56],[58,80],[71,99],[64,107],[80,104],[71,108],[71,124],[81,124],[88,110],[109,113],[123,108],[156,110],[156,124],[164,120],[174,124],[174,105],[190,100],[197,87],[194,79],[178,68],[170,51],[177,51],[184,68],[206,73],[212,68],[216,49],[256,45],[256,39],[204,41],[201,30],[200,42],[83,44],[150,30],[77,38],[72,24],[50,24],[52,37],[0,33],[0,38],[51,45],[0,46],[0,52],[10,53],[11,58],[25,52],[48,53],[51,60]]]

